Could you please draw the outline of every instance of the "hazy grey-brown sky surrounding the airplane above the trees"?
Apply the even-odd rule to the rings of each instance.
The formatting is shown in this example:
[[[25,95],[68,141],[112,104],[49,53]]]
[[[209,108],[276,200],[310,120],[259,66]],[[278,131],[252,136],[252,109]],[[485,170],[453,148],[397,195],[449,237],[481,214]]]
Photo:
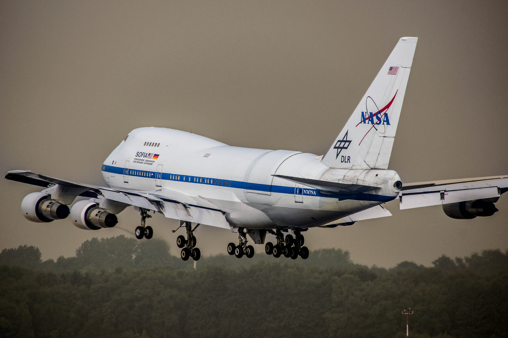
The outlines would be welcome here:
[[[403,182],[508,174],[507,35],[506,1],[0,2],[0,170],[104,184],[103,161],[144,126],[322,155],[398,39],[418,36],[389,169]],[[0,191],[0,249],[35,245],[43,259],[139,223],[132,208],[114,229],[31,223],[20,203],[37,187],[1,179]],[[508,195],[496,206],[455,220],[390,202],[392,217],[311,229],[306,245],[383,267],[504,250]],[[176,221],[148,223],[178,254]],[[237,236],[196,237],[209,255]]]

